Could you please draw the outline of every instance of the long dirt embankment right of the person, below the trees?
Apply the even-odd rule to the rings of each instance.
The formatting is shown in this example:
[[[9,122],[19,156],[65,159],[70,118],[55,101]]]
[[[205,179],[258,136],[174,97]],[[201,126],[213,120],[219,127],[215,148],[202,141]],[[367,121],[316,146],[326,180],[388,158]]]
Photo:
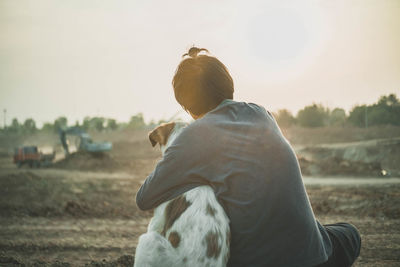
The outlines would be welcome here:
[[[309,146],[297,154],[305,175],[400,175],[400,138]]]

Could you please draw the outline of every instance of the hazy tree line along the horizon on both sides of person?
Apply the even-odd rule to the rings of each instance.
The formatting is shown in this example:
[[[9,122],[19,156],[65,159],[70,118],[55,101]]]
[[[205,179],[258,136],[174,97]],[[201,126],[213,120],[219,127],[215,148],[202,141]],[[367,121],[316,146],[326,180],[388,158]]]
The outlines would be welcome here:
[[[375,125],[396,125],[400,126],[400,101],[395,94],[381,96],[379,100],[371,105],[356,105],[349,114],[342,108],[329,109],[321,104],[312,104],[299,110],[294,116],[287,109],[280,109],[274,113],[274,117],[281,127],[298,125],[301,127],[324,127],[324,126],[346,126],[368,127]],[[64,116],[58,117],[54,122],[46,122],[41,128],[36,126],[32,118],[19,122],[12,119],[11,125],[1,129],[2,132],[12,134],[31,134],[38,131],[58,133],[59,129],[69,126],[81,127],[86,131],[115,131],[118,129],[145,129],[152,128],[165,122],[151,121],[146,124],[142,113],[131,116],[129,122],[118,122],[112,118],[85,117],[82,123],[76,121],[69,124]]]

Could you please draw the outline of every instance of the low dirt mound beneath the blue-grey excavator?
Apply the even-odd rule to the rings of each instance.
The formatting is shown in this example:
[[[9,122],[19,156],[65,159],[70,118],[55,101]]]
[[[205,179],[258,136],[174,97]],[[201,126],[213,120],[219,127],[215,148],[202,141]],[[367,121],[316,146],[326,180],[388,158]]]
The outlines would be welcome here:
[[[116,170],[121,164],[108,153],[79,151],[55,162],[52,167],[73,170]]]

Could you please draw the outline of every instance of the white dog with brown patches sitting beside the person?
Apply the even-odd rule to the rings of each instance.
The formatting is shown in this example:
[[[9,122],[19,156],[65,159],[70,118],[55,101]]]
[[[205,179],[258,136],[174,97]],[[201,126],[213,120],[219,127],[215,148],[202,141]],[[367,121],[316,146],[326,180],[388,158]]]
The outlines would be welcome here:
[[[160,144],[164,154],[185,126],[162,124],[150,132],[150,142]],[[147,233],[139,237],[134,266],[226,266],[229,243],[224,209],[211,187],[199,186],[154,210]]]

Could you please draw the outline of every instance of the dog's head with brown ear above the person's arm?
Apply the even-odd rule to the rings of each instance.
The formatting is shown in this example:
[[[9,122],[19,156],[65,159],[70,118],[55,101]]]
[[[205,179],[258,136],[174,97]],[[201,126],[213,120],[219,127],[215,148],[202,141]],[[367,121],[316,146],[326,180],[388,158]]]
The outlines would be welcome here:
[[[161,151],[164,153],[165,149],[167,149],[185,126],[185,123],[180,122],[168,122],[157,126],[149,133],[151,145],[154,147],[160,144]]]

